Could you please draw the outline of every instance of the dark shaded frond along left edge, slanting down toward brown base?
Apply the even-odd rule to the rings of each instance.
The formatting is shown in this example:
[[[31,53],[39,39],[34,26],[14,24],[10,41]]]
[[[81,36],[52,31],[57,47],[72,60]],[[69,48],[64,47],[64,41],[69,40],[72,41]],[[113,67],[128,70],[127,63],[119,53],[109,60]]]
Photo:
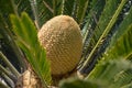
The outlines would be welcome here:
[[[22,54],[22,52],[20,51],[20,48],[16,46],[16,44],[14,43],[14,37],[13,37],[13,33],[11,31],[11,23],[10,23],[10,13],[15,13],[14,9],[12,7],[12,0],[4,0],[4,1],[0,1],[0,34],[2,35],[2,37],[0,38],[2,41],[2,43],[4,44],[6,47],[3,47],[2,51],[4,51],[6,48],[8,48],[8,53],[12,52],[14,55],[14,58],[12,58],[13,61],[15,61],[20,66],[18,66],[18,69],[20,69],[21,72],[24,72],[26,69],[26,65],[25,65],[25,61],[24,56]],[[9,8],[10,7],[10,8]],[[16,10],[18,11],[18,10]],[[6,52],[6,51],[4,51]],[[9,57],[9,59],[11,59],[11,57]]]

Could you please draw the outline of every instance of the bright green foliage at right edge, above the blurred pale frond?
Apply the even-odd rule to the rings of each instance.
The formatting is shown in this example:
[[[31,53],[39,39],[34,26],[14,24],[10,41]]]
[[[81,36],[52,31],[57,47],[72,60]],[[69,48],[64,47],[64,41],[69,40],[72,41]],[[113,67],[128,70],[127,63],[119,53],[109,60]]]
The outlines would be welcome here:
[[[130,59],[132,55],[132,8],[125,16],[125,19],[122,21],[122,23],[119,26],[119,30],[114,34],[114,36],[111,37],[111,44],[107,48],[105,53],[106,59],[114,59],[114,58],[125,58]]]

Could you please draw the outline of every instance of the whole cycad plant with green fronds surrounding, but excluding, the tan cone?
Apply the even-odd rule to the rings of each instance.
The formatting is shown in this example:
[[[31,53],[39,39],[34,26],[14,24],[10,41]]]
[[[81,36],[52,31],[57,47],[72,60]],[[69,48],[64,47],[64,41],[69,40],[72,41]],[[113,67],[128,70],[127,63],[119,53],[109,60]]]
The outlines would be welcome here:
[[[84,46],[77,75],[56,79],[37,32],[61,14],[78,23]],[[0,88],[131,88],[131,0],[0,0]]]

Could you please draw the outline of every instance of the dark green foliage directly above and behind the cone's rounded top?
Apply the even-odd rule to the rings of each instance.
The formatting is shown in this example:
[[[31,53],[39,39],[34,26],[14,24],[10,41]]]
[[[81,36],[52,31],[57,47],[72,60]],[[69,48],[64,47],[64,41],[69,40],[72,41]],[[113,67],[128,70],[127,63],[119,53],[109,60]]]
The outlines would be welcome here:
[[[59,14],[70,15],[81,24],[88,7],[88,1],[89,0],[30,0],[38,28],[51,18]]]

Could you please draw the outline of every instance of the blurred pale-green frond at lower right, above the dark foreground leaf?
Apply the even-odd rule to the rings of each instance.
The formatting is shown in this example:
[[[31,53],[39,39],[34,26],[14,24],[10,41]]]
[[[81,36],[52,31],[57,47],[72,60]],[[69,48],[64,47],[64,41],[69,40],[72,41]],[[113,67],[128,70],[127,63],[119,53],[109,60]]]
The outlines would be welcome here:
[[[116,74],[120,73],[121,70],[127,70],[129,68],[132,68],[131,63],[125,59],[114,59],[114,61],[102,59],[96,65],[95,69],[90,73],[89,76],[87,76],[86,79],[99,78],[99,79],[107,79],[107,81],[109,82],[112,81],[112,77],[114,77]]]

